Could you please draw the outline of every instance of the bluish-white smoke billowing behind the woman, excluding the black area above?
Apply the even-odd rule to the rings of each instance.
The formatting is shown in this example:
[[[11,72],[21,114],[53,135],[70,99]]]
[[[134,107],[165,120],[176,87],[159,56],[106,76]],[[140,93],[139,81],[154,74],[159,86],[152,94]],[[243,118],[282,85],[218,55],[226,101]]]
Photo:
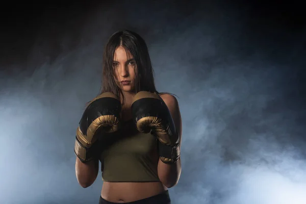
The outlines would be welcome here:
[[[75,128],[99,90],[106,39],[135,28],[147,41],[158,90],[179,96],[183,166],[179,184],[169,189],[172,203],[306,203],[304,134],[295,122],[303,110],[288,105],[294,87],[285,66],[235,37],[244,22],[211,3],[186,14],[157,3],[150,5],[154,12],[121,6],[122,12],[98,7],[84,16],[73,49],[69,25],[78,20],[72,18],[61,27],[56,57],[41,54],[48,43],[36,43],[30,62],[42,60],[41,66],[0,73],[0,202],[98,202],[100,174],[87,189],[75,179]],[[39,40],[48,42],[44,34]],[[246,42],[254,46],[248,57],[233,48]]]

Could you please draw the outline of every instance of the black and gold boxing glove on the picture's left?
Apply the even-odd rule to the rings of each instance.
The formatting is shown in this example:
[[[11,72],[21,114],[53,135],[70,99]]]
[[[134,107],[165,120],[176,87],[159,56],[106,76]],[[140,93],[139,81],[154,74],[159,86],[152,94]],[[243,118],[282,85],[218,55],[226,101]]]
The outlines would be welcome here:
[[[82,162],[98,157],[98,138],[118,130],[120,112],[120,100],[113,93],[103,93],[90,102],[79,122],[74,145],[75,155]]]

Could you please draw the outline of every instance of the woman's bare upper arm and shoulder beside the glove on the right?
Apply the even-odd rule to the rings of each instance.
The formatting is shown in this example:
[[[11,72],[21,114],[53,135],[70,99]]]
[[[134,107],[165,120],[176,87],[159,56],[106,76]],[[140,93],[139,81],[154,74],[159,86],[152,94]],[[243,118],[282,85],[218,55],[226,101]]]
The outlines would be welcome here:
[[[180,146],[182,142],[182,117],[181,117],[181,112],[180,112],[180,107],[179,107],[179,102],[177,99],[171,95],[171,94],[162,94],[160,97],[164,100],[165,104],[167,105],[170,114],[172,116],[175,129],[177,133],[179,133],[180,136]]]

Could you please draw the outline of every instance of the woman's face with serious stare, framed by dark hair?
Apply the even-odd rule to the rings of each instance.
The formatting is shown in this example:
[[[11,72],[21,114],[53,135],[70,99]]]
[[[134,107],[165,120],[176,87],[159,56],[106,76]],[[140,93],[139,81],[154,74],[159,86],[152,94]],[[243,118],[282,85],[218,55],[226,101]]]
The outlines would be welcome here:
[[[122,91],[134,91],[136,62],[132,54],[122,46],[115,50],[113,70],[116,84]]]

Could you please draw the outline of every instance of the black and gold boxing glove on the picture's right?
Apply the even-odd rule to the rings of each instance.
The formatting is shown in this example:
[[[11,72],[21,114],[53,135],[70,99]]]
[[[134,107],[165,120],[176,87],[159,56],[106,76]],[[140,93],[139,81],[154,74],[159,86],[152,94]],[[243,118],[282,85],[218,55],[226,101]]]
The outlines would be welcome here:
[[[159,155],[164,163],[180,158],[180,137],[163,99],[147,91],[138,92],[133,99],[132,114],[139,132],[151,133],[159,140]]]

